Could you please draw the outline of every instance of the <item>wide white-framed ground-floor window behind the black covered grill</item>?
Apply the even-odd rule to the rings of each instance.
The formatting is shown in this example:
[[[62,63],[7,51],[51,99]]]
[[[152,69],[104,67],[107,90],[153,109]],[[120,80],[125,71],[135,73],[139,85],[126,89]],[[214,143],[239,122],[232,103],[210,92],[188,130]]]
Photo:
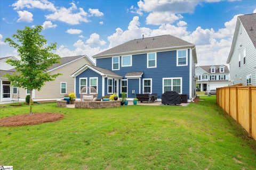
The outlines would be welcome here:
[[[182,78],[163,78],[163,93],[165,91],[176,91],[182,93]]]

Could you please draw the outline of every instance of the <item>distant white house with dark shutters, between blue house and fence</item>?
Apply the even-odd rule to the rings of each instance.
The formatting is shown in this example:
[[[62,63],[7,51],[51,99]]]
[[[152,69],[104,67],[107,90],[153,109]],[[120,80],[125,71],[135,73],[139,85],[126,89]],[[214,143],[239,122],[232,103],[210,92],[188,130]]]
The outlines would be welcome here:
[[[197,86],[201,91],[228,86],[229,70],[226,65],[204,65],[196,67]]]

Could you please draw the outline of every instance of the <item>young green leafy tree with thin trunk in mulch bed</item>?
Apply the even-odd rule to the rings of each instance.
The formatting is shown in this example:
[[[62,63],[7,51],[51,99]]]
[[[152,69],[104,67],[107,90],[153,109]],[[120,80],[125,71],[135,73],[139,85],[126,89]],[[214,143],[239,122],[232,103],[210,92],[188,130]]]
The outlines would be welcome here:
[[[17,33],[11,38],[6,38],[5,43],[17,49],[21,60],[7,60],[6,63],[15,67],[14,74],[6,74],[6,77],[15,86],[30,90],[29,114],[32,114],[32,92],[40,90],[45,82],[53,81],[59,74],[50,74],[47,69],[55,63],[59,62],[60,56],[52,53],[57,48],[56,43],[47,46],[47,40],[40,35],[42,26],[34,28],[25,27],[24,30],[17,30]]]

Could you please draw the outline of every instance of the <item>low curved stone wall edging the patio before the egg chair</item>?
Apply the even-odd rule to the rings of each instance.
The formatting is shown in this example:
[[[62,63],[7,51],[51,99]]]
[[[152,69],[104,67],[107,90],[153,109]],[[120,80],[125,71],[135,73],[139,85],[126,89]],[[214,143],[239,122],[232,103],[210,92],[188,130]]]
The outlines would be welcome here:
[[[75,101],[75,108],[112,108],[120,107],[120,101]]]

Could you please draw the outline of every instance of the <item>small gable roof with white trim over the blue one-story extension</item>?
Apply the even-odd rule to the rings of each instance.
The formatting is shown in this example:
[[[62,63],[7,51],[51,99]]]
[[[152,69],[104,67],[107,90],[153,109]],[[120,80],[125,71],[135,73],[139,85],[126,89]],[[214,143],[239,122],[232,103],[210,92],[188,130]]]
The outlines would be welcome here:
[[[104,69],[102,67],[97,67],[97,66],[94,66],[94,65],[88,65],[88,64],[85,64],[80,69],[78,69],[75,73],[71,74],[70,76],[71,77],[77,77],[77,75],[81,74],[83,71],[85,71],[87,69],[91,69],[92,71],[97,72],[100,75],[107,75],[107,76],[111,76],[111,77],[122,78],[121,75],[119,75],[119,74],[117,74],[113,71],[110,71],[108,69]]]

